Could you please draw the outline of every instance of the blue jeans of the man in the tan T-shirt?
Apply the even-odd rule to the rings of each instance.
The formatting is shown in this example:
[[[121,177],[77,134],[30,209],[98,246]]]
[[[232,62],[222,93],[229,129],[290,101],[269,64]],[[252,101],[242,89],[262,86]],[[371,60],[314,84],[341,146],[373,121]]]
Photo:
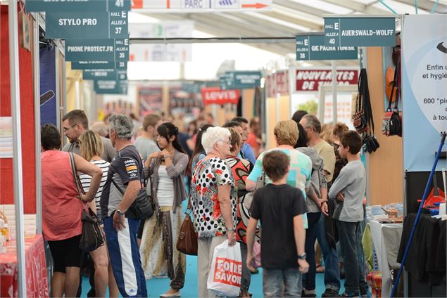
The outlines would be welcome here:
[[[326,238],[325,214],[321,214],[317,223],[317,240],[320,243],[323,259],[325,260],[325,287],[326,289],[340,290],[339,254],[329,245]],[[309,289],[308,289],[309,290]]]

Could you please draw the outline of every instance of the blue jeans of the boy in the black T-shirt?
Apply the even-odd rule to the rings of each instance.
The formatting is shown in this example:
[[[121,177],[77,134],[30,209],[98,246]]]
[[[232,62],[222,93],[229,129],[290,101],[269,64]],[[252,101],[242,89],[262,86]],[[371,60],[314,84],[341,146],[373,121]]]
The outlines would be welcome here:
[[[301,275],[298,267],[263,269],[264,297],[301,297]],[[284,282],[284,295],[282,284]]]

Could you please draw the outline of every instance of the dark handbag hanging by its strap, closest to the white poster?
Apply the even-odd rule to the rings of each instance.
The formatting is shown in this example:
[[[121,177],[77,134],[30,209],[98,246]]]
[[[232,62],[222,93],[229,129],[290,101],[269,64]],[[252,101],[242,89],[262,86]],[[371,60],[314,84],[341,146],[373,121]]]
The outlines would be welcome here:
[[[391,99],[394,98],[394,108],[391,110],[392,101],[390,99],[382,122],[382,134],[385,136],[402,136],[402,116],[398,108],[398,102],[401,96],[400,71],[401,67],[399,65],[399,59],[397,59],[396,70],[394,70],[393,88],[391,89],[390,95]]]

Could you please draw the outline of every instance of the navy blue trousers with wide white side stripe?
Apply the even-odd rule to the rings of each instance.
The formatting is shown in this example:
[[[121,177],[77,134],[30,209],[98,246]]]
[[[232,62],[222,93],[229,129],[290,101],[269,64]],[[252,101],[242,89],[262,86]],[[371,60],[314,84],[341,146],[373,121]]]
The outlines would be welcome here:
[[[113,228],[112,217],[103,222],[113,276],[122,297],[147,297],[146,278],[137,245],[139,220],[126,217],[125,228],[121,231]]]

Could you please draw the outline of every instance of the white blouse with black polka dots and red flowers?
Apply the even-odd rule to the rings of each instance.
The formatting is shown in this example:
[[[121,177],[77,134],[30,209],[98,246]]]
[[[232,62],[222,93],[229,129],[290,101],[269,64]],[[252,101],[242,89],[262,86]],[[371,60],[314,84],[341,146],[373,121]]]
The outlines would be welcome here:
[[[192,212],[194,226],[199,238],[210,238],[227,233],[225,221],[220,210],[218,186],[231,186],[230,203],[233,225],[237,224],[237,188],[232,169],[219,157],[201,160],[194,169],[191,179]]]

